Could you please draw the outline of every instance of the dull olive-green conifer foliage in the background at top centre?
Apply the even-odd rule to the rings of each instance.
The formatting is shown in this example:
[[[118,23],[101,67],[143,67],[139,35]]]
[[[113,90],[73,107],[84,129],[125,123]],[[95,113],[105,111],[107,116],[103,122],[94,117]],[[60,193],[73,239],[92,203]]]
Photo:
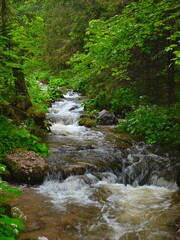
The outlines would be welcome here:
[[[56,72],[67,68],[66,62],[73,54],[77,51],[83,52],[85,31],[89,21],[110,18],[117,14],[126,2],[128,0],[46,0],[44,5],[47,39],[45,59],[48,67]]]

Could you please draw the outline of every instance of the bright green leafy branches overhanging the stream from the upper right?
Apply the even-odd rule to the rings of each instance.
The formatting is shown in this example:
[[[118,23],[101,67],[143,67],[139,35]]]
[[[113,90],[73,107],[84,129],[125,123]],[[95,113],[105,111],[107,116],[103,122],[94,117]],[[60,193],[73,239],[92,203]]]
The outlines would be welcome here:
[[[167,89],[171,87],[167,86],[166,77],[172,66],[178,65],[178,6],[179,3],[173,0],[136,1],[110,19],[90,21],[86,30],[85,52],[75,54],[69,61],[72,84],[86,93],[91,91],[92,98],[101,91],[100,84],[104,85],[105,92],[109,91],[109,95],[119,91],[117,88],[127,86],[134,89],[137,96],[148,95],[148,86],[153,84],[153,89],[162,92],[164,102],[167,101],[167,92],[170,91]],[[168,51],[172,53],[167,66]],[[141,55],[136,56],[139,53]],[[144,62],[138,62],[137,57]],[[161,62],[158,67],[153,60],[157,58]],[[142,64],[147,66],[147,69],[142,69],[145,79],[139,79],[142,78],[140,74],[136,76]],[[154,79],[150,79],[149,73],[154,74]],[[116,96],[109,100],[114,109],[123,105]]]

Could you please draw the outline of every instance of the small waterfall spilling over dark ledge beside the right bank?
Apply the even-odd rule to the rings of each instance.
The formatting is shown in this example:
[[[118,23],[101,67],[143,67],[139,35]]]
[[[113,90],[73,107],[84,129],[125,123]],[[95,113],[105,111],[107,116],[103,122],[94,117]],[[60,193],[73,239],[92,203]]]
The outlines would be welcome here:
[[[146,144],[124,151],[119,179],[124,184],[177,188],[179,162],[173,156],[160,156]]]

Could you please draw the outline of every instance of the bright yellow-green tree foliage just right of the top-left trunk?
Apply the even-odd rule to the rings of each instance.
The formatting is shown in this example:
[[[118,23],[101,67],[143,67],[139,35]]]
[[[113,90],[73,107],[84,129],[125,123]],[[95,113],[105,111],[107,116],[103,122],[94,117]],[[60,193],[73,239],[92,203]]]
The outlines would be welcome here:
[[[43,68],[44,62],[42,53],[44,52],[45,26],[42,18],[42,2],[25,1],[17,2],[16,19],[12,23],[11,37],[16,43],[14,50],[21,56],[24,71],[30,73],[36,69]]]

